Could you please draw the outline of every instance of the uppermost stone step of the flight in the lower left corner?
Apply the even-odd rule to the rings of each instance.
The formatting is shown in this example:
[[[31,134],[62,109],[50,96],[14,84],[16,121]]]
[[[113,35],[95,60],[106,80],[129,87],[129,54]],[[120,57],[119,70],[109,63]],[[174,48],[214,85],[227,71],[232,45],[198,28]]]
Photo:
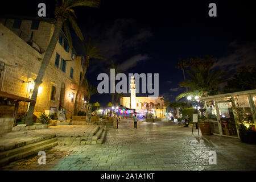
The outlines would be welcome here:
[[[0,146],[0,148],[1,148],[0,152],[13,150],[15,148],[23,147],[23,146],[26,146],[28,144],[41,142],[43,140],[47,140],[47,139],[51,139],[51,138],[55,138],[55,137],[56,137],[56,135],[52,134],[52,135],[45,135],[45,136],[42,136],[42,137],[28,138],[26,140],[21,140],[19,142],[15,142],[15,143],[9,143],[9,144],[6,144],[5,146]]]

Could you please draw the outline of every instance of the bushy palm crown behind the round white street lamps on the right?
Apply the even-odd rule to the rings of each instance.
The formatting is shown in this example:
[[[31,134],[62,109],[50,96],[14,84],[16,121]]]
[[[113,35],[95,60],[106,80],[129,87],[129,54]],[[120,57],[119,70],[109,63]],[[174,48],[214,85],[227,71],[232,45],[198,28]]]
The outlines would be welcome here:
[[[218,86],[221,82],[224,82],[222,71],[212,71],[206,65],[199,64],[197,67],[191,67],[188,75],[191,79],[182,81],[179,85],[188,87],[189,91],[179,94],[176,101],[185,96],[202,97],[216,94]]]

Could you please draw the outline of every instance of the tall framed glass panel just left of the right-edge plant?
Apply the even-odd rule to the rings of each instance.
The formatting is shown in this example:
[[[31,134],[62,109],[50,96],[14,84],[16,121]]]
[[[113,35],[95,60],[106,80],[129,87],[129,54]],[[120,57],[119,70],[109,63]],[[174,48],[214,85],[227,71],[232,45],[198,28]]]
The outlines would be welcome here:
[[[237,137],[236,121],[231,102],[218,103],[218,110],[220,112],[222,134]]]

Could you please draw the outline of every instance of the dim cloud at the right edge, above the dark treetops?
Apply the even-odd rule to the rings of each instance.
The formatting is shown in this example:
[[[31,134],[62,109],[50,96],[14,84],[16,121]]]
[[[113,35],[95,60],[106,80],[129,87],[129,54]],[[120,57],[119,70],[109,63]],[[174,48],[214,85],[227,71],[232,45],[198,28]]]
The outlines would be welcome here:
[[[229,44],[232,53],[218,59],[214,68],[224,69],[226,75],[232,75],[237,68],[243,65],[256,67],[256,42],[244,45],[232,42]]]

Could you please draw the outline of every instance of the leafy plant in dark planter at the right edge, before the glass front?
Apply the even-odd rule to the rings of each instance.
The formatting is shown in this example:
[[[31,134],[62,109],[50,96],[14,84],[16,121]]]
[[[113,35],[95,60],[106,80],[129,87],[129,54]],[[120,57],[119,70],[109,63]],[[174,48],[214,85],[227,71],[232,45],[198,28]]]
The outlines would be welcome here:
[[[239,137],[242,142],[256,144],[256,131],[253,130],[253,118],[246,114],[239,102],[232,98],[232,109],[235,114],[236,125],[239,131]]]

